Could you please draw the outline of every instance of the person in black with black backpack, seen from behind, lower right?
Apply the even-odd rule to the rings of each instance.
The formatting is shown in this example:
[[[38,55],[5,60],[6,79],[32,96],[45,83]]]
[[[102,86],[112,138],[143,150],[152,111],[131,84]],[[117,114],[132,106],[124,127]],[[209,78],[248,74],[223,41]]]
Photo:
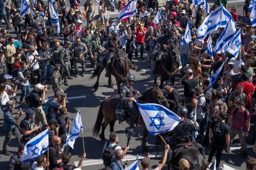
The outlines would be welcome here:
[[[225,124],[227,113],[222,111],[218,122],[213,122],[209,129],[209,143],[212,143],[211,151],[208,157],[207,167],[211,167],[211,161],[214,153],[216,152],[216,169],[220,166],[220,159],[225,145],[229,146],[230,143],[230,127]]]

